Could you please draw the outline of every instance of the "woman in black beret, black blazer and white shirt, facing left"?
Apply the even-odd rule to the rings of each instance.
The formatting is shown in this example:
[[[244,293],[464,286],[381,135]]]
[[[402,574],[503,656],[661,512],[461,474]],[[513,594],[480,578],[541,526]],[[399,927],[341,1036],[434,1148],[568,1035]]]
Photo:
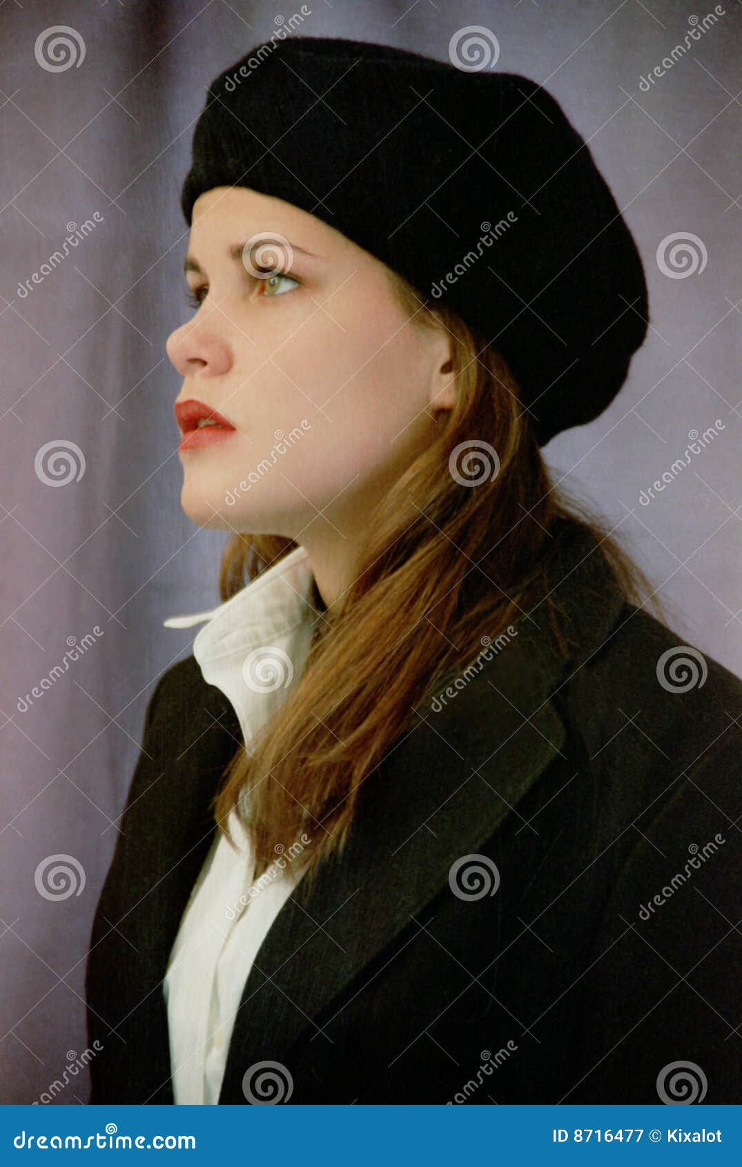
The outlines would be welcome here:
[[[181,202],[182,505],[231,537],[166,621],[91,1100],[738,1102],[742,683],[540,452],[646,331],[587,146],[524,77],[274,37]]]

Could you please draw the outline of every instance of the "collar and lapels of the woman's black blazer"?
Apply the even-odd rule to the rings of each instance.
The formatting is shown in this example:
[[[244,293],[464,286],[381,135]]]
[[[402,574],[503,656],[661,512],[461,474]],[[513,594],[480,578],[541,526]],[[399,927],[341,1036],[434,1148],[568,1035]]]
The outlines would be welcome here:
[[[312,895],[294,888],[270,929],[245,984],[219,1102],[244,1102],[245,1068],[286,1058],[303,1030],[322,1042],[334,999],[442,890],[454,861],[476,854],[555,757],[567,728],[552,699],[610,635],[623,595],[598,545],[573,525],[551,588],[562,612],[570,657],[556,651],[544,606],[517,624],[517,635],[474,672],[439,712],[429,700],[365,781],[359,812],[342,857],[320,868]],[[235,712],[224,694],[204,690],[198,703],[211,729],[188,755],[187,813],[158,838],[166,871],[180,879],[174,896],[156,889],[145,910],[162,925],[153,985],[161,981],[181,913],[212,838],[208,802],[226,756]],[[220,742],[220,745],[219,745]],[[232,741],[231,752],[235,742]],[[170,795],[172,797],[172,795]],[[162,819],[167,823],[167,817]],[[524,819],[525,823],[525,819]],[[524,829],[533,830],[533,826]],[[184,861],[186,860],[186,861]],[[175,876],[175,872],[180,875]],[[166,1100],[159,1097],[156,1100]]]

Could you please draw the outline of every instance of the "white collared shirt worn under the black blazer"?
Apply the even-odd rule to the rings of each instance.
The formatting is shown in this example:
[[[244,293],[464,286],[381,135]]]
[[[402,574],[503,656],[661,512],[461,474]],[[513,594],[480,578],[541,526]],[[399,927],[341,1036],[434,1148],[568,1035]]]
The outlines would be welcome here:
[[[168,628],[208,621],[194,656],[204,680],[235,706],[245,743],[299,680],[317,619],[313,586],[308,552],[299,546],[217,608],[164,621]],[[162,983],[175,1103],[218,1102],[245,981],[300,878],[284,860],[253,883],[249,837],[235,812],[228,825],[239,852],[217,831]]]

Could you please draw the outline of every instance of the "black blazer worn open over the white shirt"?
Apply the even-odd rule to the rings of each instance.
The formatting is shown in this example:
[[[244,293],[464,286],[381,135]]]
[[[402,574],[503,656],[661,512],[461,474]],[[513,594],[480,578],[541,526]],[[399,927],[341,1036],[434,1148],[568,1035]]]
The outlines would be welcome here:
[[[592,537],[553,584],[569,663],[520,621],[414,711],[258,952],[220,1103],[264,1062],[289,1104],[742,1102],[742,682],[660,683],[682,642]],[[162,978],[240,740],[192,656],[162,676],[92,928],[92,1103],[173,1102]]]

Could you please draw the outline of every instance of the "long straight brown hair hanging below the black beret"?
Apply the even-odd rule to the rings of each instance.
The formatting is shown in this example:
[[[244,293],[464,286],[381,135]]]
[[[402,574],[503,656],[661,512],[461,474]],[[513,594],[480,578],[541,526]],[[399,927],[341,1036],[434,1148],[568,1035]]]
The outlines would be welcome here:
[[[448,330],[455,406],[368,516],[356,578],[337,613],[321,622],[294,689],[249,750],[237,752],[212,799],[228,838],[232,809],[250,832],[256,879],[276,855],[293,854],[308,831],[298,864],[307,890],[328,855],[342,854],[364,781],[373,781],[371,771],[438,679],[481,651],[482,629],[495,638],[544,603],[560,642],[546,584],[560,520],[589,527],[628,600],[640,603],[651,591],[604,524],[573,496],[567,506],[565,490],[553,487],[503,357],[459,316],[421,306],[401,277],[388,275],[415,323]],[[499,471],[473,487],[461,459],[487,464],[491,450]],[[233,534],[222,559],[222,599],[295,546],[278,536]]]

